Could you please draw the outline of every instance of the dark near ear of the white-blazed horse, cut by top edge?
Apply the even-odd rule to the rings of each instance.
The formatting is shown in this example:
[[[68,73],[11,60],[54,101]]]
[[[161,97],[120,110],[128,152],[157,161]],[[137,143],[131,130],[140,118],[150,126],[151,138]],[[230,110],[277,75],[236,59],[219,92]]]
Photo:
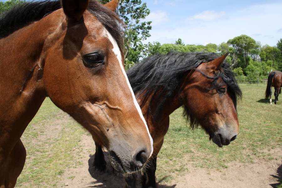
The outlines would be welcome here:
[[[61,3],[68,21],[76,23],[83,17],[89,0],[61,0]]]

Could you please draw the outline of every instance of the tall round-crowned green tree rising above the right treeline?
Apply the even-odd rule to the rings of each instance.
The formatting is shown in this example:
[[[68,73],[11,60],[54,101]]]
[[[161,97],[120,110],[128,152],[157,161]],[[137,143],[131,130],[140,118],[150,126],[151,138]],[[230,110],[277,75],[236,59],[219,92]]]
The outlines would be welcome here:
[[[232,45],[235,49],[235,54],[240,59],[241,67],[244,69],[248,66],[250,58],[248,57],[251,53],[254,53],[259,48],[258,44],[254,39],[248,35],[240,35],[227,41],[229,45]]]

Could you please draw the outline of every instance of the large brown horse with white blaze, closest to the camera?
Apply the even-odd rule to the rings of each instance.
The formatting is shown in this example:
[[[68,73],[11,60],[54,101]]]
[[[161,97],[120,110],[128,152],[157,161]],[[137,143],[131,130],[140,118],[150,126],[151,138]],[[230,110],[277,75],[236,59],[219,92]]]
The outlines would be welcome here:
[[[127,174],[153,153],[123,68],[118,0],[26,2],[0,19],[0,187],[14,187],[26,158],[20,140],[45,97],[86,128]],[[62,8],[61,8],[62,7]]]

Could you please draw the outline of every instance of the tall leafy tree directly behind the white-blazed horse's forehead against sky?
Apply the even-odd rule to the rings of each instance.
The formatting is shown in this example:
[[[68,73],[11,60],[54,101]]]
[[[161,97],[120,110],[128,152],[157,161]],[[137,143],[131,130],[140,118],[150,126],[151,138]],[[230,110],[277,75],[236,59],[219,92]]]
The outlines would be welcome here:
[[[110,0],[100,0],[107,3]],[[138,62],[144,54],[146,45],[143,41],[150,37],[151,21],[144,21],[150,14],[146,3],[141,0],[121,0],[117,10],[119,17],[125,23],[125,66],[129,68]]]

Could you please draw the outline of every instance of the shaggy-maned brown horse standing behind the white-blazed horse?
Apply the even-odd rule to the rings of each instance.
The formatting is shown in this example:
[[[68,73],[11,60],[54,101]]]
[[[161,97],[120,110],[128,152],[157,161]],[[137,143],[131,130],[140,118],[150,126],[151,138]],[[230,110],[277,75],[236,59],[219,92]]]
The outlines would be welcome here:
[[[128,70],[128,78],[154,140],[152,168],[145,169],[143,187],[156,187],[157,155],[169,128],[169,115],[184,107],[191,127],[197,125],[219,147],[238,134],[237,98],[242,96],[227,55],[214,53],[169,53],[153,55]],[[96,144],[94,165],[104,170],[106,162]],[[135,178],[127,179],[135,187]]]

